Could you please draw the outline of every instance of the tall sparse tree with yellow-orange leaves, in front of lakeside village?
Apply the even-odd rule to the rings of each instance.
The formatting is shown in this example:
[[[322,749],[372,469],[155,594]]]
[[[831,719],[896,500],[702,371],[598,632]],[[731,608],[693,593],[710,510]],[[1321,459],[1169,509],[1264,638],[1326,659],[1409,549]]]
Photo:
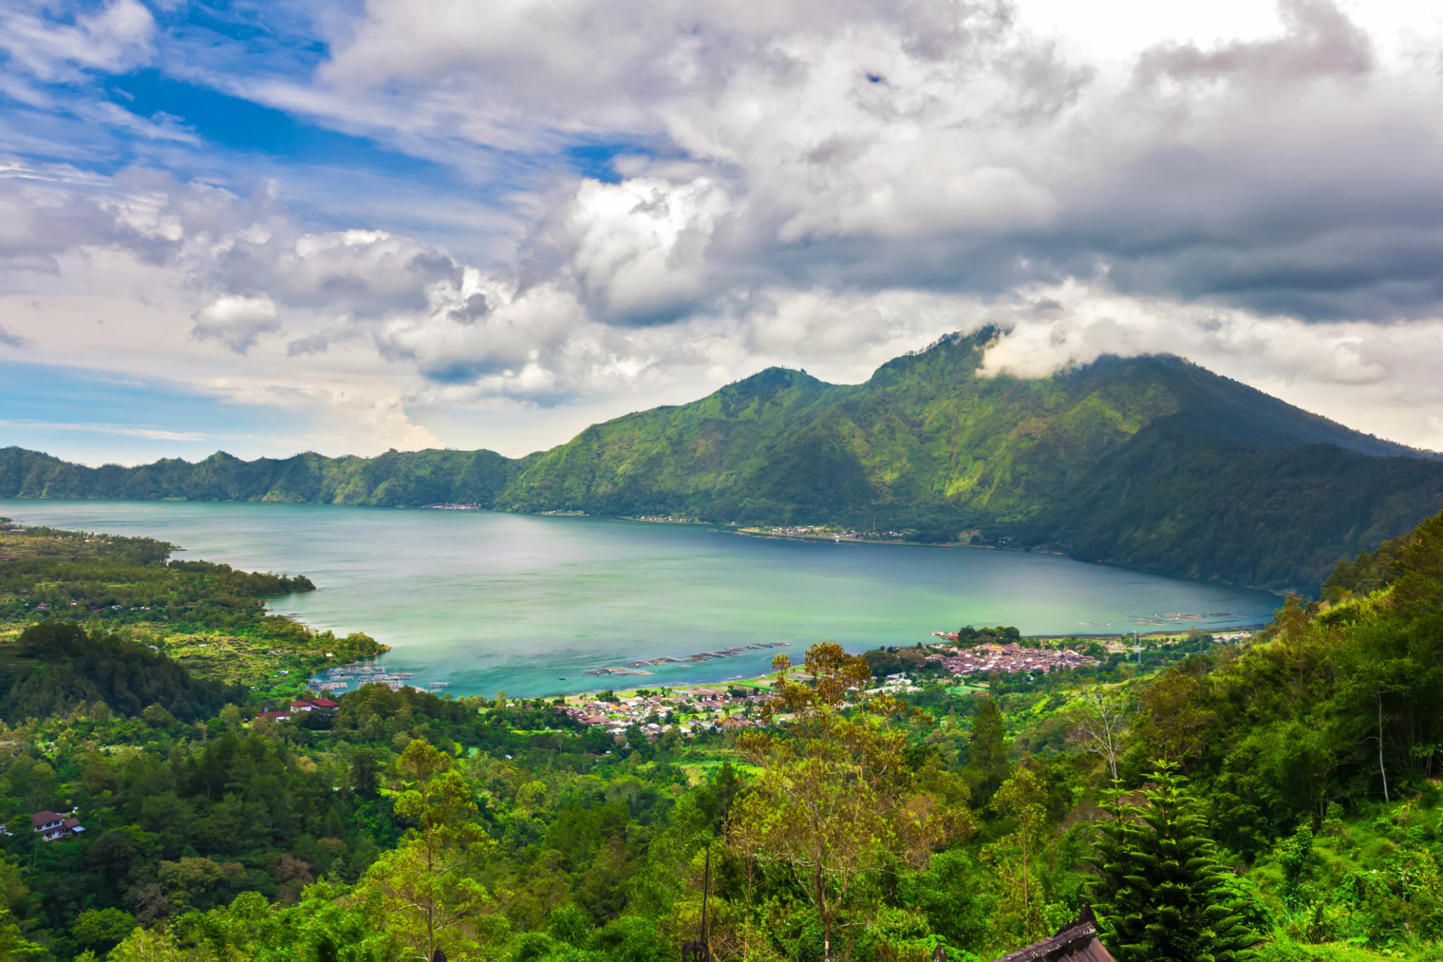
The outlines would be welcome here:
[[[762,717],[789,717],[785,731],[749,731],[737,749],[760,767],[733,809],[734,845],[789,871],[807,893],[831,958],[838,920],[872,875],[921,861],[932,847],[971,828],[955,798],[926,792],[903,763],[905,736],[890,718],[908,711],[889,695],[853,717],[847,698],[867,688],[872,671],[838,645],[814,645],[792,681],[791,661],[773,661],[778,681]]]

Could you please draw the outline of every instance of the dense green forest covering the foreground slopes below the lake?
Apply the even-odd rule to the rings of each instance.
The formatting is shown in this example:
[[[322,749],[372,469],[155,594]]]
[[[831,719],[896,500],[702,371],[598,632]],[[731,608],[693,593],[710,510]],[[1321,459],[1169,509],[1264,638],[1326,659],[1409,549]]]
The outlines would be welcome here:
[[[139,612],[32,609],[13,656],[95,684],[4,712],[0,953],[984,961],[1092,906],[1121,962],[1443,959],[1443,515],[1382,554],[1140,665],[960,685],[818,643],[766,727],[691,741],[378,685],[277,723],[165,652],[126,682]]]

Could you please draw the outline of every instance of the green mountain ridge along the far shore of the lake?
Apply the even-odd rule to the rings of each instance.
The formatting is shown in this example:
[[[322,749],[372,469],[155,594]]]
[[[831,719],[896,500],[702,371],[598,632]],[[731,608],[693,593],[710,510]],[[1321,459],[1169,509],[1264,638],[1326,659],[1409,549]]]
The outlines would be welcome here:
[[[1038,381],[978,378],[994,332],[948,337],[860,385],[768,369],[700,401],[494,451],[215,454],[88,469],[0,450],[0,496],[470,502],[908,528],[1266,587],[1443,509],[1443,462],[1351,431],[1172,356]]]

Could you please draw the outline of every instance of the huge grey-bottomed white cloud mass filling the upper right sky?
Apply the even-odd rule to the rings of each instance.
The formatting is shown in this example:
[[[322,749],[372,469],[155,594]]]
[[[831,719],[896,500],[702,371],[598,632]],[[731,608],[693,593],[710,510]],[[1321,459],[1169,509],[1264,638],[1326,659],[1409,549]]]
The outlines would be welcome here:
[[[609,322],[737,287],[1104,275],[1309,319],[1443,306],[1440,74],[1381,61],[1329,0],[1121,72],[1001,3],[776,6],[377,0],[317,79],[348,123],[365,104],[408,137],[664,146],[551,195],[531,238]]]

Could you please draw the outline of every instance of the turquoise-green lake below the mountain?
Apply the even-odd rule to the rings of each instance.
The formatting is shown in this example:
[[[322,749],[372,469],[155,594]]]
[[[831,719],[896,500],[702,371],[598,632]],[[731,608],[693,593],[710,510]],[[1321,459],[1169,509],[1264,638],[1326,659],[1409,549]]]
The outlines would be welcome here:
[[[962,625],[1104,635],[1260,625],[1278,599],[1051,554],[781,541],[710,525],[333,505],[13,500],[0,515],[146,535],[177,557],[304,574],[319,588],[276,612],[392,646],[385,663],[447,691],[544,695],[610,682],[587,669],[760,642],[742,656],[648,668],[615,684],[746,678],[801,661],[926,642]],[[563,681],[564,679],[564,681]]]

